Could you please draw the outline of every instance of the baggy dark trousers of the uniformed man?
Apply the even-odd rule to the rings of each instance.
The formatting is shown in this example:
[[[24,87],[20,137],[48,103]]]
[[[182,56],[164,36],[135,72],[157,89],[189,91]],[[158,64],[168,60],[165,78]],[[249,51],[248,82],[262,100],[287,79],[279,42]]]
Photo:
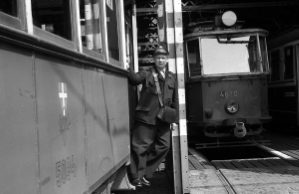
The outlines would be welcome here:
[[[132,134],[132,178],[151,178],[170,147],[170,125],[149,125],[136,121]]]

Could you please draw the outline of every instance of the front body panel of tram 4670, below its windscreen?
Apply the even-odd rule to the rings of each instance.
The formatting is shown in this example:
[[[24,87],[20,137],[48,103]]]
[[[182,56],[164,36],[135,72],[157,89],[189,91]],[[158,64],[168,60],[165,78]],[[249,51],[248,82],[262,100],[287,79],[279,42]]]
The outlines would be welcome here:
[[[257,123],[262,116],[261,91],[266,78],[222,81],[203,81],[188,84],[188,91],[199,98],[196,105],[189,106],[188,121],[202,121],[202,124],[222,124],[225,119],[246,118],[248,122],[252,119]],[[194,89],[197,88],[197,89]],[[193,91],[189,91],[193,90]],[[195,97],[193,97],[195,98]],[[225,104],[229,100],[235,100],[239,104],[237,114],[231,115],[225,112]],[[194,102],[195,100],[192,100]],[[202,103],[200,103],[202,101]],[[211,118],[205,116],[205,110],[212,110]],[[193,113],[193,114],[192,114]],[[196,118],[196,119],[194,119]],[[199,119],[199,120],[198,120]]]

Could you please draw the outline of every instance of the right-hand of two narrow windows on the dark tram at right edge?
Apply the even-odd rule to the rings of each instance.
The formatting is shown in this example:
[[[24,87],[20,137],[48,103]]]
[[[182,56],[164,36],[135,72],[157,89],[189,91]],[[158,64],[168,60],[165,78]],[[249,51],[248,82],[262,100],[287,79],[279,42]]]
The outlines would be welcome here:
[[[292,79],[294,77],[293,71],[293,46],[284,48],[284,79]]]

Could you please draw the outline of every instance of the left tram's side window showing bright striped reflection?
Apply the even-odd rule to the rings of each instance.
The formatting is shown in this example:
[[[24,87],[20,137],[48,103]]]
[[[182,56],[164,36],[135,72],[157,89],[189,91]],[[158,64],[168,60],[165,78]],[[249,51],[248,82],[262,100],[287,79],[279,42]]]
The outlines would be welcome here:
[[[102,53],[102,29],[99,0],[80,0],[82,44],[88,50]]]

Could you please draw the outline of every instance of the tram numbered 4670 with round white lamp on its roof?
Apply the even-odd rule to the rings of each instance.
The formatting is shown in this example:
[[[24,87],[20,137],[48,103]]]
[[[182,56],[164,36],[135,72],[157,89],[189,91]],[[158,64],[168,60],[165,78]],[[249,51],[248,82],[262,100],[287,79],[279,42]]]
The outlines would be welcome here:
[[[268,111],[267,31],[241,29],[232,11],[189,25],[186,50],[188,136],[244,139],[262,132]]]

